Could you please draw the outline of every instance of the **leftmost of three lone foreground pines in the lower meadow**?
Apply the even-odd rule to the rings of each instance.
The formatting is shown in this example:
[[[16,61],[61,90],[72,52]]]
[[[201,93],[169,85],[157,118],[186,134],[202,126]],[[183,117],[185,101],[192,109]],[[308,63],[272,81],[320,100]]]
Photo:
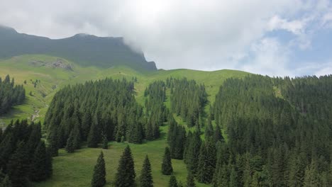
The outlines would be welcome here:
[[[101,187],[104,186],[105,183],[106,183],[106,169],[105,169],[104,154],[103,152],[100,152],[96,162],[96,166],[94,166],[94,175],[92,176],[91,186]]]

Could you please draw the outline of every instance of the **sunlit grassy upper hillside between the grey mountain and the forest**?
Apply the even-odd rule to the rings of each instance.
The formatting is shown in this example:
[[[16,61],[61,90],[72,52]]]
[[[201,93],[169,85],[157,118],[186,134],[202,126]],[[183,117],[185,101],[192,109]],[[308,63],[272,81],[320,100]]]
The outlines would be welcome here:
[[[209,101],[214,102],[219,86],[228,77],[244,77],[246,72],[233,70],[219,70],[215,72],[196,71],[191,69],[157,70],[140,72],[125,66],[109,68],[85,67],[76,62],[60,57],[47,55],[21,55],[8,60],[0,60],[0,77],[10,74],[17,84],[23,84],[26,89],[26,103],[16,106],[10,113],[0,117],[4,123],[11,119],[29,118],[43,120],[48,104],[55,92],[67,84],[83,83],[88,80],[137,77],[135,83],[136,99],[143,104],[143,92],[151,82],[167,79],[168,77],[187,77],[195,79],[199,84],[205,84],[209,94]],[[38,80],[36,86],[34,82]],[[30,94],[31,93],[31,94]]]

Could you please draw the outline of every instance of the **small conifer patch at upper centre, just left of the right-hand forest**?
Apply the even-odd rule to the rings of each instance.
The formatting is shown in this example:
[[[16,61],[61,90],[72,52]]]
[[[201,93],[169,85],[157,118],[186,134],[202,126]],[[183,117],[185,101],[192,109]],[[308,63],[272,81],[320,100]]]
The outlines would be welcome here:
[[[189,127],[203,123],[204,106],[208,102],[204,85],[194,80],[166,79],[170,89],[171,111],[182,117]]]

